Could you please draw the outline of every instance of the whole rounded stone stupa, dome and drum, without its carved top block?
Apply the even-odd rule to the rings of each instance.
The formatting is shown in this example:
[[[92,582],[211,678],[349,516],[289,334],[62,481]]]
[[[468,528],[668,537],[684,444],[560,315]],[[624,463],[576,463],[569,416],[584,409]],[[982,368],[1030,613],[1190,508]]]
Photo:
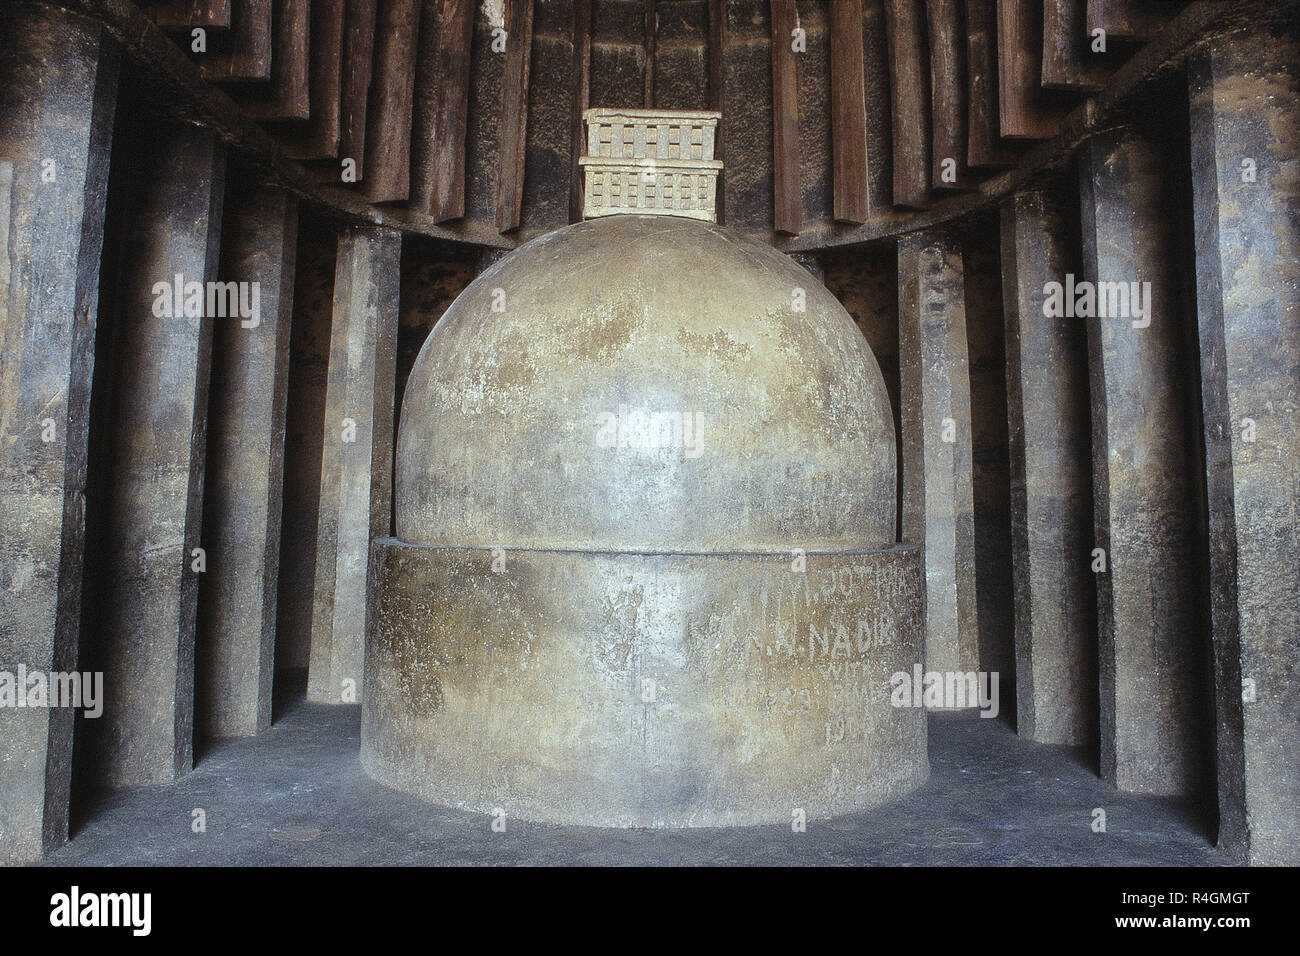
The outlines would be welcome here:
[[[919,549],[840,303],[720,226],[534,239],[407,382],[396,538],[372,549],[361,758],[471,810],[734,826],[928,774]]]

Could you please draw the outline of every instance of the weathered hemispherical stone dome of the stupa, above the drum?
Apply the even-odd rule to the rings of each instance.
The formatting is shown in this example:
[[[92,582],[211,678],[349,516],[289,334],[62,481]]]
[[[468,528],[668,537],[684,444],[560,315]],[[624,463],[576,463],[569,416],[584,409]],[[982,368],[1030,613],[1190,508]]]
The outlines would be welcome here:
[[[884,546],[880,368],[820,282],[708,224],[523,246],[439,320],[402,403],[396,536],[618,551]]]

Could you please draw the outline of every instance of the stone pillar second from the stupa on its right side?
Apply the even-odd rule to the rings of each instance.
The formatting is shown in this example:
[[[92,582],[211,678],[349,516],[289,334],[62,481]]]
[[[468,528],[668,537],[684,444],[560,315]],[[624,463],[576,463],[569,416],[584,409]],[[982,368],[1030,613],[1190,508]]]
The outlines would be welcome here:
[[[1088,338],[1043,306],[1049,282],[1079,272],[1076,226],[1045,193],[1002,207],[1015,726],[1070,745],[1097,739]]]

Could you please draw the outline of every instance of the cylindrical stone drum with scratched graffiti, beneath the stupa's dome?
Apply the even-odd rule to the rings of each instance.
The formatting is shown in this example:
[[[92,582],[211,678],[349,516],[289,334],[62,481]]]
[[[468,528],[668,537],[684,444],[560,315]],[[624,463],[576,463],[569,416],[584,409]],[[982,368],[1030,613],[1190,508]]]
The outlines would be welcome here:
[[[602,554],[376,541],[361,761],[448,806],[790,823],[924,783],[914,546]],[[647,683],[649,682],[649,683]],[[649,697],[649,700],[647,700]]]

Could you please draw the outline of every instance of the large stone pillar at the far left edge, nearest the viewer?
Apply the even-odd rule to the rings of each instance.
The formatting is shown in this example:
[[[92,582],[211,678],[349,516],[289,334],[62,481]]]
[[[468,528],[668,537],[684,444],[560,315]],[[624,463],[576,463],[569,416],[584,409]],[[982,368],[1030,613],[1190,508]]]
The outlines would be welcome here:
[[[44,4],[0,7],[0,671],[72,671],[118,53]],[[26,693],[27,688],[13,688]],[[68,839],[72,708],[0,708],[0,864]]]

